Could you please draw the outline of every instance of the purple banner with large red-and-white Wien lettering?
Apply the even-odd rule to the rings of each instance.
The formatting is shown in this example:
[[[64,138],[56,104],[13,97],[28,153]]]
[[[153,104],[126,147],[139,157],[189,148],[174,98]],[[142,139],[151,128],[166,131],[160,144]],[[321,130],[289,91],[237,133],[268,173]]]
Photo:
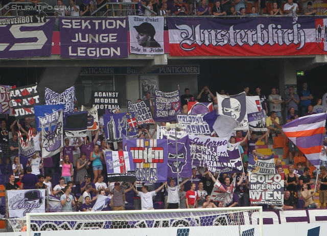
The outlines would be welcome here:
[[[166,182],[168,144],[166,139],[127,140],[133,155],[136,181]]]

